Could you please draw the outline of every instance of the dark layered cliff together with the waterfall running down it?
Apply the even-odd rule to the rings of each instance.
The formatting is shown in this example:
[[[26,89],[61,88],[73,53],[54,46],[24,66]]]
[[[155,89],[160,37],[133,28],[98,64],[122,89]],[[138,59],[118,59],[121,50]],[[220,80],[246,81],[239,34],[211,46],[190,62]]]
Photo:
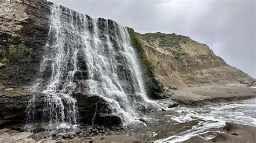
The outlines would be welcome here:
[[[1,50],[9,60],[0,69],[0,128],[24,124],[26,114],[28,122],[116,125],[148,110],[146,95],[161,98],[152,71],[144,66],[140,75],[144,62],[122,25],[47,1],[5,1],[0,8]],[[13,46],[32,54],[14,54]],[[0,60],[6,55],[0,52]]]

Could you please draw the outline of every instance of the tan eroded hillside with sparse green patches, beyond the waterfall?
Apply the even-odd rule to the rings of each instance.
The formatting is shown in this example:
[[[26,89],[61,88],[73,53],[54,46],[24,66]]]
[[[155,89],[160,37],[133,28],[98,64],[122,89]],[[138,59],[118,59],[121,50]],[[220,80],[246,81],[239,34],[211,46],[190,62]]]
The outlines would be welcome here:
[[[154,74],[163,85],[253,81],[243,71],[227,65],[206,45],[177,34],[139,34]]]

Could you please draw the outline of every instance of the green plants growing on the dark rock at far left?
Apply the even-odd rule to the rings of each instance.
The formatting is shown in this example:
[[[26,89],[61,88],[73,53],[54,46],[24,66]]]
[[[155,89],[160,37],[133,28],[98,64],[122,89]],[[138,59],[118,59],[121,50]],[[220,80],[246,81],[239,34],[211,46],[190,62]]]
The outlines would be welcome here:
[[[0,45],[0,55],[2,63],[8,63],[10,56],[22,55],[26,54],[28,57],[26,59],[27,62],[31,61],[32,48],[25,46],[24,40],[19,40],[18,44],[10,44],[9,46]]]

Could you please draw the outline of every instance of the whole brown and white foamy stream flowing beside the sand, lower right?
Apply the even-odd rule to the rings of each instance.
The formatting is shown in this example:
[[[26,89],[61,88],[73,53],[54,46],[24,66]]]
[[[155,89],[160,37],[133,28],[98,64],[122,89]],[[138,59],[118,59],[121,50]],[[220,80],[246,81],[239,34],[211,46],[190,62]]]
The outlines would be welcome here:
[[[223,132],[226,122],[256,126],[256,99],[201,107],[177,106],[144,116],[146,123],[128,125],[127,135],[154,142],[179,142],[199,135],[205,140]]]

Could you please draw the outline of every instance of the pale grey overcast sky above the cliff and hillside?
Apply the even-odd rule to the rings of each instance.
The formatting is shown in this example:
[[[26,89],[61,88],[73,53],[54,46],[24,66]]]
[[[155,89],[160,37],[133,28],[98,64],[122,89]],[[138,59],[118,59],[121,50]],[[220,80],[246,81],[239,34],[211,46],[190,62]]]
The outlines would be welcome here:
[[[256,78],[255,0],[51,0],[139,33],[186,35]]]

